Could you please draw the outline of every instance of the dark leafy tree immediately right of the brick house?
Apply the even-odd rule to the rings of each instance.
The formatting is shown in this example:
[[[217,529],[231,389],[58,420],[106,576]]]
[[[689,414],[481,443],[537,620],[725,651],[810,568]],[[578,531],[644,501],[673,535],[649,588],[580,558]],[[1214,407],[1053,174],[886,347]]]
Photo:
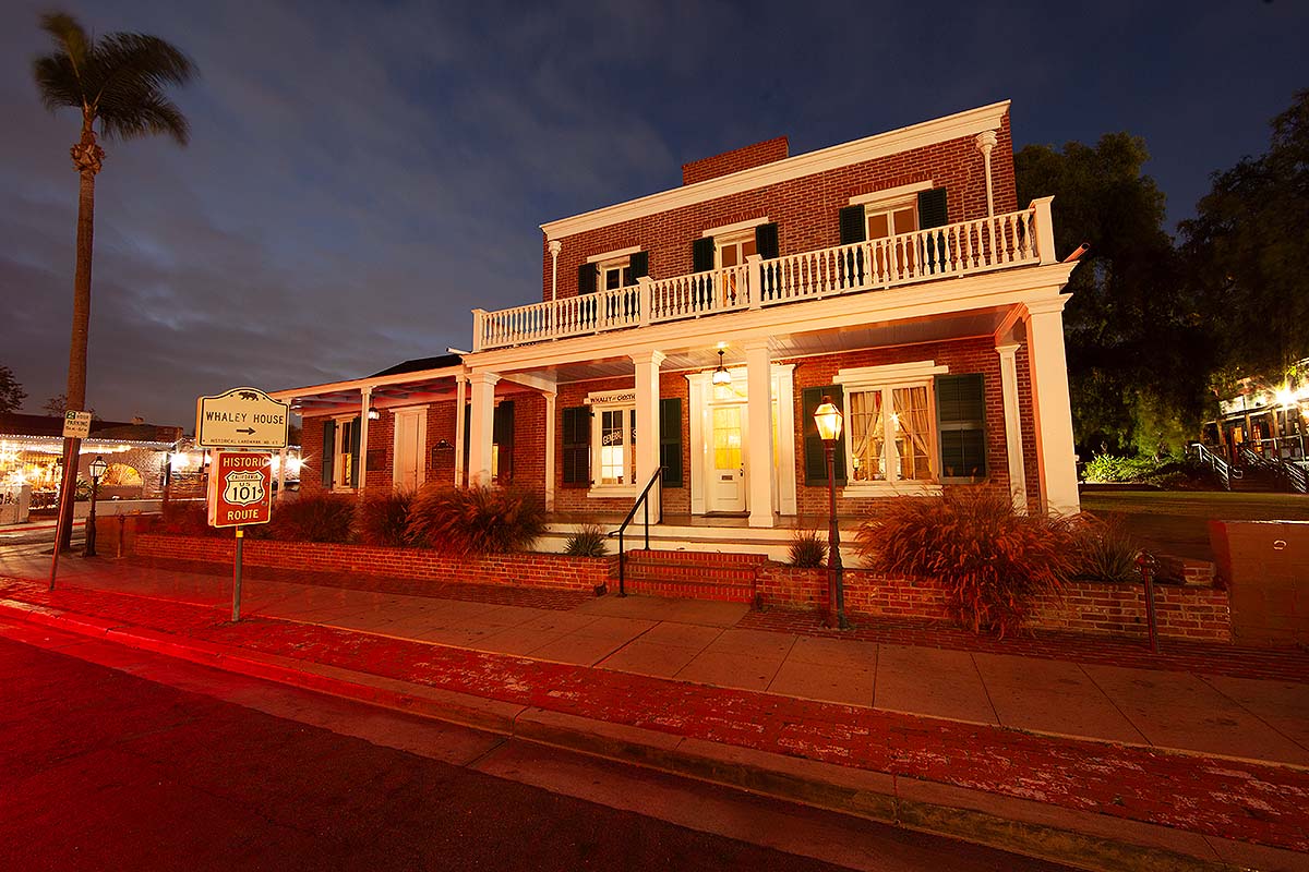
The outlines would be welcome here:
[[[1156,452],[1200,422],[1206,335],[1164,230],[1164,193],[1141,174],[1145,143],[1106,133],[1092,148],[1028,145],[1014,154],[1018,201],[1054,195],[1055,244],[1090,244],[1064,309],[1073,429],[1084,456]]]

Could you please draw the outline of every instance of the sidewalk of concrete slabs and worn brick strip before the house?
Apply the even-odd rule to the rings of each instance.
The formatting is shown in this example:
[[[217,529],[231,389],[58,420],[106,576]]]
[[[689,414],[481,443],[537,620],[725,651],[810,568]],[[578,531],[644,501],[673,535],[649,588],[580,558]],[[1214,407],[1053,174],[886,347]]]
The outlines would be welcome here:
[[[0,570],[26,574],[20,563],[9,556]],[[8,612],[85,616],[93,631],[166,634],[170,645],[204,648],[204,658],[220,656],[206,646],[258,652],[319,679],[323,669],[374,676],[398,682],[385,686],[403,688],[402,696],[437,688],[530,703],[552,713],[546,732],[556,744],[579,745],[577,733],[589,733],[602,753],[631,756],[635,748],[637,758],[669,767],[681,763],[668,760],[673,749],[661,735],[702,754],[702,745],[715,745],[719,770],[724,753],[762,753],[767,762],[746,769],[778,771],[800,758],[819,770],[788,777],[826,786],[821,804],[835,801],[833,786],[847,800],[889,791],[902,822],[914,825],[906,808],[945,808],[952,813],[918,825],[956,828],[952,834],[1009,850],[1024,846],[1004,842],[996,820],[1021,821],[1029,841],[1033,828],[1076,833],[1080,841],[1064,838],[1064,850],[1046,837],[1034,842],[1045,846],[1037,852],[1064,862],[1086,863],[1092,839],[1103,856],[1113,856],[1106,845],[1126,841],[1153,858],[1136,868],[1309,868],[1304,854],[1251,845],[1309,850],[1309,660],[1301,655],[1272,656],[1280,677],[1255,679],[1228,668],[1241,658],[1224,651],[1190,651],[1168,669],[1141,669],[1105,656],[1079,660],[1077,646],[1073,656],[1059,656],[1058,645],[1031,656],[897,643],[894,633],[860,641],[809,626],[757,629],[767,621],[736,604],[459,584],[432,586],[436,596],[334,586],[348,579],[247,578],[242,614],[253,620],[232,625],[223,567],[68,565],[54,595],[43,584],[7,584]],[[1111,654],[1114,643],[1101,647]],[[381,685],[373,685],[376,693]],[[461,697],[454,705],[467,714],[473,703]],[[639,735],[611,732],[634,728]],[[877,773],[894,782],[860,780]],[[852,774],[857,790],[846,783]],[[932,784],[937,791],[924,795]],[[850,811],[876,817],[877,808],[856,803]],[[957,831],[961,822],[971,829]],[[1158,851],[1172,865],[1160,864]],[[1195,865],[1178,865],[1178,858]],[[1118,856],[1101,868],[1132,864]]]

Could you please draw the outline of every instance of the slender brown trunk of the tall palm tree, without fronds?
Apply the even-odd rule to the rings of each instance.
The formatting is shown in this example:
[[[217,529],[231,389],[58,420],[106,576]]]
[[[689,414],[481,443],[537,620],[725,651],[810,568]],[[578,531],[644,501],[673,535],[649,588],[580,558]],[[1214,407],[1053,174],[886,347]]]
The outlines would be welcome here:
[[[90,327],[90,261],[92,237],[96,226],[96,174],[99,173],[105,150],[96,144],[96,132],[89,123],[82,124],[81,140],[69,149],[73,167],[81,176],[77,196],[77,267],[73,273],[73,331],[68,344],[68,409],[82,411],[86,405],[86,337]],[[72,546],[73,492],[77,488],[77,463],[81,458],[81,439],[64,439],[64,475],[59,485],[59,536],[56,550]],[[58,557],[56,557],[58,560]],[[50,586],[54,587],[55,570],[51,567]]]

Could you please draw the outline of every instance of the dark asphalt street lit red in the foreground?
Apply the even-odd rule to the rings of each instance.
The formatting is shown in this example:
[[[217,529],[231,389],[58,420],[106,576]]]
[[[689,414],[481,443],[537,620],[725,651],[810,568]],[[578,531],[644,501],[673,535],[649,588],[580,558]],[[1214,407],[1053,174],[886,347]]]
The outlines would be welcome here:
[[[0,675],[4,869],[1063,868],[42,628]]]

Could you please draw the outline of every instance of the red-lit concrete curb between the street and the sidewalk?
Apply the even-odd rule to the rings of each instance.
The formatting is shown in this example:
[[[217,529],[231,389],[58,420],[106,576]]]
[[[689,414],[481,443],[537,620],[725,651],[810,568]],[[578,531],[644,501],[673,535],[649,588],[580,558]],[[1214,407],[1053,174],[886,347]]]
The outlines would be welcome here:
[[[1309,869],[1309,855],[474,697],[0,599],[0,616],[484,732],[1103,872]]]

